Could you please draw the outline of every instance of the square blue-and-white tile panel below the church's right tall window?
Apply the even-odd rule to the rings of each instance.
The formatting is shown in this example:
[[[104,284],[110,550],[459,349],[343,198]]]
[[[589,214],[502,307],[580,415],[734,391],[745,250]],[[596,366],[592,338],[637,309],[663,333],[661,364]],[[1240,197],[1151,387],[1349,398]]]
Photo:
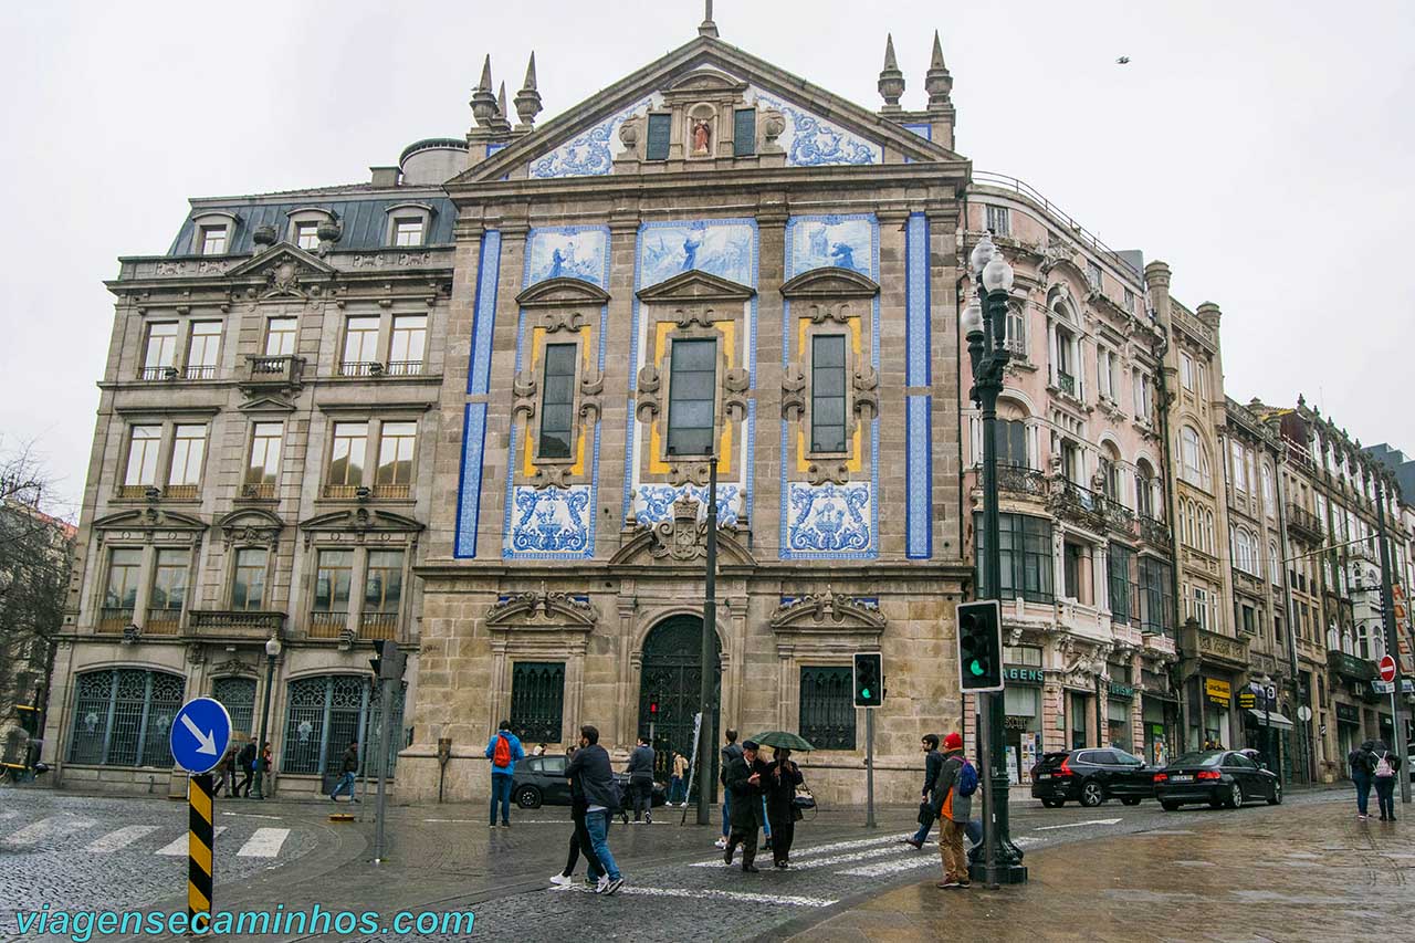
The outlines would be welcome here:
[[[791,481],[782,552],[788,559],[873,558],[877,532],[870,483]]]

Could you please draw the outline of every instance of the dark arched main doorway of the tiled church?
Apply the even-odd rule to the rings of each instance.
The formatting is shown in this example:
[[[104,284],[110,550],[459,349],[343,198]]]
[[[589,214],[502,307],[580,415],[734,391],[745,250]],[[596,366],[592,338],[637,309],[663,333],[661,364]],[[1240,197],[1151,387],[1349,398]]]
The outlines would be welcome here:
[[[693,715],[702,699],[702,639],[703,620],[699,616],[671,616],[654,626],[644,639],[644,658],[638,680],[638,733],[649,736],[652,726],[654,777],[666,783],[672,776],[674,750],[692,759]],[[717,715],[722,699],[722,648],[713,639],[712,729],[720,739]],[[658,705],[658,711],[652,705]],[[717,750],[715,743],[700,743],[712,759],[712,782],[717,782]],[[698,784],[695,782],[693,790]]]

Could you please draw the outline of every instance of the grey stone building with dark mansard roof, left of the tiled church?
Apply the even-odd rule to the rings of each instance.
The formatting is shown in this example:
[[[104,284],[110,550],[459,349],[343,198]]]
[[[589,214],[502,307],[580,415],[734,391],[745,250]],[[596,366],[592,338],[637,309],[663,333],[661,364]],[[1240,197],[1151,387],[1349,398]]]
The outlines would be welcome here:
[[[166,255],[122,259],[57,784],[166,790],[197,695],[258,736],[270,636],[282,790],[318,789],[365,739],[372,640],[416,639],[453,272],[440,184],[464,161],[464,142],[420,142],[366,184],[192,200]]]

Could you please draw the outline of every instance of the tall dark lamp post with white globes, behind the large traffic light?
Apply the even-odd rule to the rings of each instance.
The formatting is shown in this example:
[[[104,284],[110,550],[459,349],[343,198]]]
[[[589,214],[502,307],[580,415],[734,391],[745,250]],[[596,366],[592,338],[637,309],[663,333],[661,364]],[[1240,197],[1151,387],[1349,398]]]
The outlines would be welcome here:
[[[1002,252],[983,235],[969,256],[974,285],[981,285],[982,303],[972,299],[962,314],[968,337],[968,360],[972,362],[974,388],[969,398],[982,413],[982,581],[978,599],[1000,599],[1002,552],[998,537],[998,394],[1007,368],[1007,293],[1012,290],[1012,266]],[[979,739],[983,749],[983,776],[990,782],[983,790],[982,861],[974,861],[969,871],[988,885],[1023,884],[1027,869],[1022,864],[1022,850],[1012,844],[1007,825],[1007,750],[1003,739],[1006,705],[1002,692],[983,692],[981,714],[983,726]]]

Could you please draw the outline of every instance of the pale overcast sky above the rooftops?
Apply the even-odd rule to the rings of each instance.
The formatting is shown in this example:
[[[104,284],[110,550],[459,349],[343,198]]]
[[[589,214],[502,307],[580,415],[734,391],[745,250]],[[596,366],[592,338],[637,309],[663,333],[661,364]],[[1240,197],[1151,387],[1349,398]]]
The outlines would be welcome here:
[[[545,120],[693,35],[702,3],[4,3],[0,447],[76,505],[120,255],[194,195],[354,183],[460,137],[484,52]],[[1415,452],[1408,3],[717,0],[722,38],[867,108],[884,33],[923,108],[932,31],[958,150],[1224,310],[1228,395],[1299,392]],[[1401,25],[1401,24],[1405,25]],[[1128,65],[1116,57],[1128,55]],[[1358,307],[1360,306],[1360,307]]]

